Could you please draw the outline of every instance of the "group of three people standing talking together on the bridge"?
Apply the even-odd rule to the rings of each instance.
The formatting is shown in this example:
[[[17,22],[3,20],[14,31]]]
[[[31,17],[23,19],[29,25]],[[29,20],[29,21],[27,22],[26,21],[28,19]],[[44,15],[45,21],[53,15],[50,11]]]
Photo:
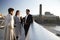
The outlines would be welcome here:
[[[20,17],[20,11],[17,10],[15,16],[14,9],[8,9],[8,15],[5,18],[4,40],[25,40],[28,34],[30,24],[33,23],[33,17],[30,10],[26,9],[26,16]]]

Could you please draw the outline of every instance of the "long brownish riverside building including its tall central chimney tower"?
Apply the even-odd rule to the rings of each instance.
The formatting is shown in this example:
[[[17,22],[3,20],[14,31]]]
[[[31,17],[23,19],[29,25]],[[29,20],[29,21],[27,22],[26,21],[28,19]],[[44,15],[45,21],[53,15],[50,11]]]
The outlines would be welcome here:
[[[50,12],[45,12],[45,15],[42,15],[42,4],[40,4],[39,15],[33,16],[34,20],[39,24],[58,24],[60,23],[59,16],[56,16]]]

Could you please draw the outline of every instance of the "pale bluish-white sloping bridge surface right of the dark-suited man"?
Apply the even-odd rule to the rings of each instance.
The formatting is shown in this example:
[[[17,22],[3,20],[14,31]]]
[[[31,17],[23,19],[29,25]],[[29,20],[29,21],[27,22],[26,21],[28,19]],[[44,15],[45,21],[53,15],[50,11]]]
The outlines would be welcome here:
[[[30,27],[28,34],[26,39],[29,37],[30,40],[60,40],[58,36],[36,22]]]

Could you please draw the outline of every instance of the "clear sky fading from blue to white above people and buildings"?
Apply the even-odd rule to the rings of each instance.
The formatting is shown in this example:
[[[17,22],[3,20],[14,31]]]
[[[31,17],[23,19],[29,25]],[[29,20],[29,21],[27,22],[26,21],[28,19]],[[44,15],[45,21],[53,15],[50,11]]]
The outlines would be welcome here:
[[[60,0],[0,0],[0,13],[7,15],[8,8],[20,10],[25,15],[25,10],[31,10],[32,15],[39,14],[39,4],[42,4],[42,13],[49,11],[60,16]]]

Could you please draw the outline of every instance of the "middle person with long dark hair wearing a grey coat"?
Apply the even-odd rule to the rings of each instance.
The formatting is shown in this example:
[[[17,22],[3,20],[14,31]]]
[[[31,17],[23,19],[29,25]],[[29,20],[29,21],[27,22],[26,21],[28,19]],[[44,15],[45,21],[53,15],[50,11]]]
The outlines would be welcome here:
[[[20,11],[17,10],[14,17],[15,34],[17,40],[25,40],[24,27],[22,25],[22,17],[20,17]]]

